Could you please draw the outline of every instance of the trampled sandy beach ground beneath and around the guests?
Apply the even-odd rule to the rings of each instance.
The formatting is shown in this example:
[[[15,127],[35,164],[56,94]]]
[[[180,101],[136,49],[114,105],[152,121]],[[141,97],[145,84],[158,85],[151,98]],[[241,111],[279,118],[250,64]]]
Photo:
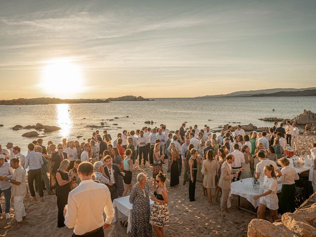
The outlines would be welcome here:
[[[300,135],[300,150],[308,151],[312,142],[316,142],[316,136]],[[164,164],[163,166],[164,172],[167,170],[166,165],[167,164]],[[151,191],[153,192],[152,169],[149,164],[147,164],[145,168],[138,168],[138,165],[135,166],[133,184],[136,183],[136,175],[139,172],[147,174]],[[219,210],[219,205],[209,205],[207,197],[203,196],[201,182],[197,182],[196,201],[190,202],[188,198],[188,183],[182,185],[182,176],[180,178],[180,185],[173,188],[169,187],[170,173],[167,173],[167,177],[168,181],[166,182],[166,186],[169,195],[171,219],[170,226],[165,228],[165,236],[247,236],[248,223],[256,216],[238,210],[237,197],[232,200],[232,207],[229,209],[228,213],[223,214]],[[251,207],[251,204],[245,198],[241,198],[241,203],[245,207]],[[1,198],[1,204],[4,204],[3,197]],[[24,205],[27,219],[23,221],[23,226],[16,229],[12,207],[13,203],[11,203],[11,219],[7,221],[4,217],[0,217],[0,236],[70,237],[72,235],[72,229],[57,228],[57,204],[55,196],[48,196],[44,193],[43,203],[40,202],[40,200],[34,202],[29,197],[24,200]],[[129,236],[129,234],[126,234],[126,227],[121,227],[119,222],[114,223],[111,230],[106,232],[105,235],[108,237]],[[152,236],[156,236],[156,234],[153,232]]]

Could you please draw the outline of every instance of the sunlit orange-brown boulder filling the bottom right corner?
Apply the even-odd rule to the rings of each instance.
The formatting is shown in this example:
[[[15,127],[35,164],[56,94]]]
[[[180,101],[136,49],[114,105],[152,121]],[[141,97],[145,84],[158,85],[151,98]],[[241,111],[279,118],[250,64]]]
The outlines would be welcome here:
[[[316,228],[310,225],[301,215],[290,212],[284,213],[282,223],[299,237],[316,237]]]

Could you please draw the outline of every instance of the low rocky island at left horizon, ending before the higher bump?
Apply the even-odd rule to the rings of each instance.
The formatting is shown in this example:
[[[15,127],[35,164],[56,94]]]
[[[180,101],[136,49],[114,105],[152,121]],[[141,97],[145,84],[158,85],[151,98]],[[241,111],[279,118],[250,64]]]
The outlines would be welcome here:
[[[48,104],[85,104],[85,103],[109,103],[105,100],[91,99],[59,99],[59,98],[32,98],[32,99],[13,99],[0,100],[0,105],[48,105]]]

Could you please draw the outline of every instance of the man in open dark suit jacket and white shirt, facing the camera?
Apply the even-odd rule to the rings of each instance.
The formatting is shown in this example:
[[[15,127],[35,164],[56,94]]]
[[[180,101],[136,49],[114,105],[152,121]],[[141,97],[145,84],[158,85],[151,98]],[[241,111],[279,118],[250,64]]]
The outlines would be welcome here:
[[[110,193],[111,193],[111,200],[118,198],[118,174],[124,176],[125,174],[120,171],[118,166],[112,165],[112,158],[110,156],[106,156],[105,158],[104,172],[109,177],[110,182],[107,184]]]

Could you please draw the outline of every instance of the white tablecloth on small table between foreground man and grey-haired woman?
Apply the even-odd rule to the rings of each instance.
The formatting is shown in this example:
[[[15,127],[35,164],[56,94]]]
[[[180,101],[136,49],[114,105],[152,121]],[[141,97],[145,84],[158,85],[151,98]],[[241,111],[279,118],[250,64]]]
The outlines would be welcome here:
[[[152,208],[154,201],[150,200],[150,207]],[[128,217],[127,231],[132,229],[132,208],[133,205],[129,202],[129,196],[119,197],[113,200],[113,208],[115,211],[113,222],[118,221],[120,218]]]

